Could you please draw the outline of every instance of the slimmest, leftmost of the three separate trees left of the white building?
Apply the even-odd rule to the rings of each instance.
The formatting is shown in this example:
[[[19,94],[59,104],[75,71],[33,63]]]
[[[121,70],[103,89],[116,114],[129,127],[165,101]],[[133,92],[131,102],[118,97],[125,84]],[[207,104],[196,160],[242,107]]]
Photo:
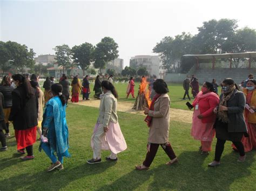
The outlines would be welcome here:
[[[53,49],[55,50],[58,66],[63,67],[63,74],[64,74],[65,69],[70,67],[71,65],[71,49],[69,45],[65,45],[65,44],[61,46],[56,46]]]

